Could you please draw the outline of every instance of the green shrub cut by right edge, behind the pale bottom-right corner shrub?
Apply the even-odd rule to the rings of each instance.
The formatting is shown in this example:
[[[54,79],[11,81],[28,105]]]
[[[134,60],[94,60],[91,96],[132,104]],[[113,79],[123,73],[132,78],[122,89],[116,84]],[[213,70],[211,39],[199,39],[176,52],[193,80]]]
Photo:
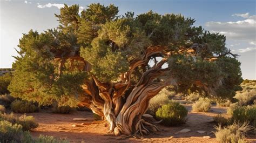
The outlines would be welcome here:
[[[256,127],[256,106],[238,106],[233,110],[231,120],[238,122],[250,122]]]

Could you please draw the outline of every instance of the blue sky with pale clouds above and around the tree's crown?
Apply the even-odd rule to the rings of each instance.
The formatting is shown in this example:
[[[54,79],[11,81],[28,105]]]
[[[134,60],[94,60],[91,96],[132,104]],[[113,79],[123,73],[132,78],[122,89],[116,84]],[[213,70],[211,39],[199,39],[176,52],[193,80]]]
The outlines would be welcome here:
[[[56,28],[58,22],[54,13],[59,8],[79,4],[82,9],[90,3],[113,3],[119,8],[119,15],[133,11],[136,15],[153,10],[161,14],[181,13],[196,19],[194,25],[226,35],[226,47],[238,53],[242,77],[256,79],[256,3],[255,1],[30,1],[0,0],[0,68],[11,67],[17,53],[18,39],[30,29],[42,32]]]

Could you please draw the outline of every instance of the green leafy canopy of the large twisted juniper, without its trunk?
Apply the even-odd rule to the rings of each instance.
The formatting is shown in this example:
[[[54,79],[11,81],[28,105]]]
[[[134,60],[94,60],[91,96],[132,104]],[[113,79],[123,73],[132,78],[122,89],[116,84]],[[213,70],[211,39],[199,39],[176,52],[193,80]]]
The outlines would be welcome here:
[[[190,91],[231,99],[241,90],[240,63],[226,53],[225,36],[192,26],[192,18],[152,11],[136,17],[134,12],[118,16],[117,6],[99,3],[80,13],[79,5],[65,4],[55,16],[57,29],[42,33],[30,30],[19,39],[18,56],[12,65],[14,77],[8,87],[15,98],[39,105],[57,101],[62,106],[76,106],[83,97],[81,85],[92,75],[113,83],[129,70],[130,62],[142,59],[146,47],[156,45],[174,53],[170,58],[163,54],[153,57],[169,58],[166,70],[170,75],[156,78],[175,79],[180,83],[177,93]],[[200,51],[194,57],[176,55],[181,48]],[[207,60],[215,56],[217,60]],[[90,72],[84,70],[85,61],[92,65]],[[135,69],[131,87],[151,66]]]

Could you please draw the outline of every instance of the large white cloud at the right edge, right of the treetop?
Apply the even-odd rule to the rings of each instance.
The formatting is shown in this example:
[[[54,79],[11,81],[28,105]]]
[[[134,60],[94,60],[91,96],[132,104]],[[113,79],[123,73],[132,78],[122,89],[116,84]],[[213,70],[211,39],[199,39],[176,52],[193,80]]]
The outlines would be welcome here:
[[[238,15],[234,14],[234,15]],[[246,42],[256,43],[256,15],[247,16],[247,13],[239,14],[247,17],[243,21],[235,22],[207,22],[205,24],[207,30],[211,32],[219,32],[224,34],[227,39],[245,40]]]

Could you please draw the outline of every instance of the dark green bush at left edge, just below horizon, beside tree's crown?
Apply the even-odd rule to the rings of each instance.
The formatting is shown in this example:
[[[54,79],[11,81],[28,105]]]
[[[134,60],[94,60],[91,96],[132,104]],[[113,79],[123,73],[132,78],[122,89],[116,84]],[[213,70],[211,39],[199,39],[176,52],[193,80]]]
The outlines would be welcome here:
[[[0,95],[9,94],[8,86],[11,83],[12,75],[11,73],[6,73],[3,76],[0,76]]]

